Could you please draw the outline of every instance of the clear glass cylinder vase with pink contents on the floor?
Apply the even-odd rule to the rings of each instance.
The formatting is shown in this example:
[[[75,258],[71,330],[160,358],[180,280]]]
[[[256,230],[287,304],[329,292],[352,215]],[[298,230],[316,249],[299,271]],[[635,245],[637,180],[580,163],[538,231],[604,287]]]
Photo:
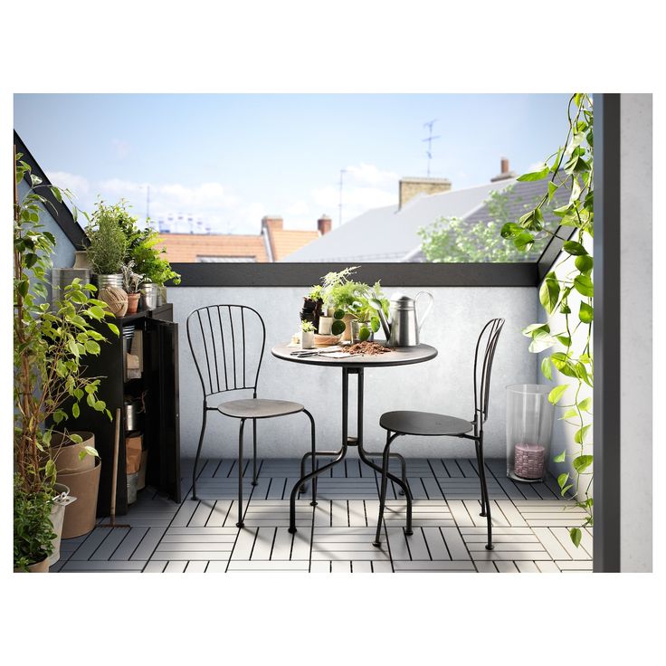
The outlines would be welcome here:
[[[507,476],[527,482],[546,478],[555,405],[552,386],[507,386]]]

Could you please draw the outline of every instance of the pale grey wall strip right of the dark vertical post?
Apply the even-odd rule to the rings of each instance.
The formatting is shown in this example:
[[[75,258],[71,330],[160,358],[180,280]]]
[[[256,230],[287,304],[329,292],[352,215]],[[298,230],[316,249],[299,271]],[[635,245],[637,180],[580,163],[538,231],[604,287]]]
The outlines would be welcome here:
[[[652,571],[652,95],[621,114],[621,567]]]

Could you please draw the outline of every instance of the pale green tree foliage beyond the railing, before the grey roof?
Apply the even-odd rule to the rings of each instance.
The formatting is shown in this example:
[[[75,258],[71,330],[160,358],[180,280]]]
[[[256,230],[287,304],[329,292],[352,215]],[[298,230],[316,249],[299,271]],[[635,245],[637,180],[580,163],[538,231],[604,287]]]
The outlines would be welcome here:
[[[421,251],[426,261],[485,263],[538,259],[547,243],[545,235],[539,239],[530,234],[521,235],[522,245],[517,246],[501,233],[507,224],[516,233],[522,232],[522,227],[512,222],[509,210],[511,202],[518,203],[524,209],[537,203],[524,203],[521,197],[513,194],[513,185],[510,185],[501,191],[491,192],[484,202],[489,212],[487,220],[470,224],[459,217],[442,217],[433,224],[421,227],[418,233],[422,239]],[[526,256],[527,250],[530,252]]]

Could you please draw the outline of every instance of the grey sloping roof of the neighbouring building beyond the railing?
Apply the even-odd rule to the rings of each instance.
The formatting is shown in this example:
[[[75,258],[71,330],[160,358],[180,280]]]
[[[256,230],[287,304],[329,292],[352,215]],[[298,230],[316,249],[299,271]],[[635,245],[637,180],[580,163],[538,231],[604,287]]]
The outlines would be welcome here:
[[[484,201],[493,191],[515,184],[509,210],[522,214],[538,194],[546,191],[546,181],[519,183],[515,179],[482,186],[451,190],[437,195],[420,195],[402,209],[396,205],[373,208],[338,229],[285,257],[283,262],[401,262],[421,247],[418,230],[440,217],[461,217],[471,222],[488,219]],[[485,218],[484,218],[485,215]],[[423,261],[414,256],[408,261]]]

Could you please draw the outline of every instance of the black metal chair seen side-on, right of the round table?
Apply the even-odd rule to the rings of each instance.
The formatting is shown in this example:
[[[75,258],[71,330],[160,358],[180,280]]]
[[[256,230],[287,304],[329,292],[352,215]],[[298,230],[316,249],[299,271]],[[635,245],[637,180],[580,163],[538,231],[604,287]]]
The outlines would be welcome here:
[[[490,319],[481,330],[476,343],[474,356],[474,418],[471,421],[447,416],[444,414],[430,414],[428,412],[385,412],[379,419],[379,425],[386,431],[386,444],[382,457],[382,485],[379,496],[379,519],[377,532],[373,545],[381,545],[380,536],[382,519],[386,503],[386,472],[391,444],[396,437],[405,434],[420,435],[424,437],[461,437],[474,442],[476,447],[476,460],[479,465],[479,479],[481,492],[480,516],[488,521],[488,543],[486,548],[492,550],[492,519],[490,517],[490,501],[488,499],[488,485],[486,483],[485,463],[483,461],[483,423],[488,419],[488,398],[490,395],[490,371],[499,333],[504,326],[504,319]],[[485,348],[482,342],[485,338]],[[468,434],[473,431],[473,434]],[[412,534],[409,521],[406,534]]]

